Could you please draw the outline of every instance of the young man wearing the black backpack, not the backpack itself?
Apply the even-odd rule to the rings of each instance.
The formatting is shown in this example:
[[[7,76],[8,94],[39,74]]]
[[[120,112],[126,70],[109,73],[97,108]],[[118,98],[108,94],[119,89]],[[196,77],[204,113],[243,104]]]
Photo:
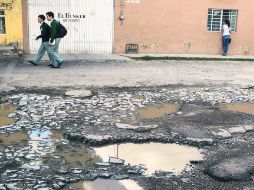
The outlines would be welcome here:
[[[49,46],[54,51],[54,56],[52,59],[54,59],[54,63],[52,65],[53,68],[59,68],[62,63],[64,62],[63,59],[59,56],[59,44],[61,41],[61,34],[60,34],[60,23],[54,19],[54,13],[53,12],[47,12],[46,13],[47,20],[51,21],[51,32],[50,32],[50,39],[49,39]],[[53,45],[53,42],[55,44]]]

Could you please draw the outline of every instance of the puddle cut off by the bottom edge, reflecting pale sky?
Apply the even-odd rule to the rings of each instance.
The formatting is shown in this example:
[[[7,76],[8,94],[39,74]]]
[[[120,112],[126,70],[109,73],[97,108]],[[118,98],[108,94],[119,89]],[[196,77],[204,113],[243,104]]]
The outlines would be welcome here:
[[[142,190],[133,180],[106,180],[97,179],[92,182],[80,182],[71,184],[70,187],[79,190]]]

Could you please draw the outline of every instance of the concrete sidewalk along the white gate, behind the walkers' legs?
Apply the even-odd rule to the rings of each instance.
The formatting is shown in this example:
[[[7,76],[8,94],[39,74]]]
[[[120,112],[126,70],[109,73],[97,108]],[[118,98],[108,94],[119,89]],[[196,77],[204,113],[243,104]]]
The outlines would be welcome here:
[[[24,54],[23,59],[25,61],[34,60],[34,54]],[[107,61],[130,61],[131,59],[125,56],[116,54],[101,54],[101,53],[83,53],[83,54],[61,54],[61,57],[66,61],[85,61],[85,62],[107,62]],[[43,61],[48,61],[48,55],[45,54]]]

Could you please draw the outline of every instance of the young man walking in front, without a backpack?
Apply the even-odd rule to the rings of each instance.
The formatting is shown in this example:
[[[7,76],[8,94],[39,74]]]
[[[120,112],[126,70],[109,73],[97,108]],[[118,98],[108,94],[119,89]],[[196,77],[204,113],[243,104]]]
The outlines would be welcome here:
[[[42,42],[41,42],[41,46],[38,50],[38,53],[36,55],[35,61],[29,61],[29,63],[32,63],[35,66],[37,66],[39,64],[39,62],[41,61],[41,59],[46,51],[48,53],[49,58],[54,53],[53,50],[49,49],[49,45],[48,45],[49,38],[50,38],[50,26],[47,23],[45,23],[44,21],[45,21],[45,16],[39,15],[38,16],[38,23],[41,24],[41,26],[40,26],[41,35],[37,36],[35,39],[39,40],[41,38]]]

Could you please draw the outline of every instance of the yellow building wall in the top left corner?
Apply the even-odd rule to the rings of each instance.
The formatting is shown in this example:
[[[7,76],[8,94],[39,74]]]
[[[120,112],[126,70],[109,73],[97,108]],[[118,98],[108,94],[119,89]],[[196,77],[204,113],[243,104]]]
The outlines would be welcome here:
[[[23,44],[22,1],[0,0],[0,46]]]

